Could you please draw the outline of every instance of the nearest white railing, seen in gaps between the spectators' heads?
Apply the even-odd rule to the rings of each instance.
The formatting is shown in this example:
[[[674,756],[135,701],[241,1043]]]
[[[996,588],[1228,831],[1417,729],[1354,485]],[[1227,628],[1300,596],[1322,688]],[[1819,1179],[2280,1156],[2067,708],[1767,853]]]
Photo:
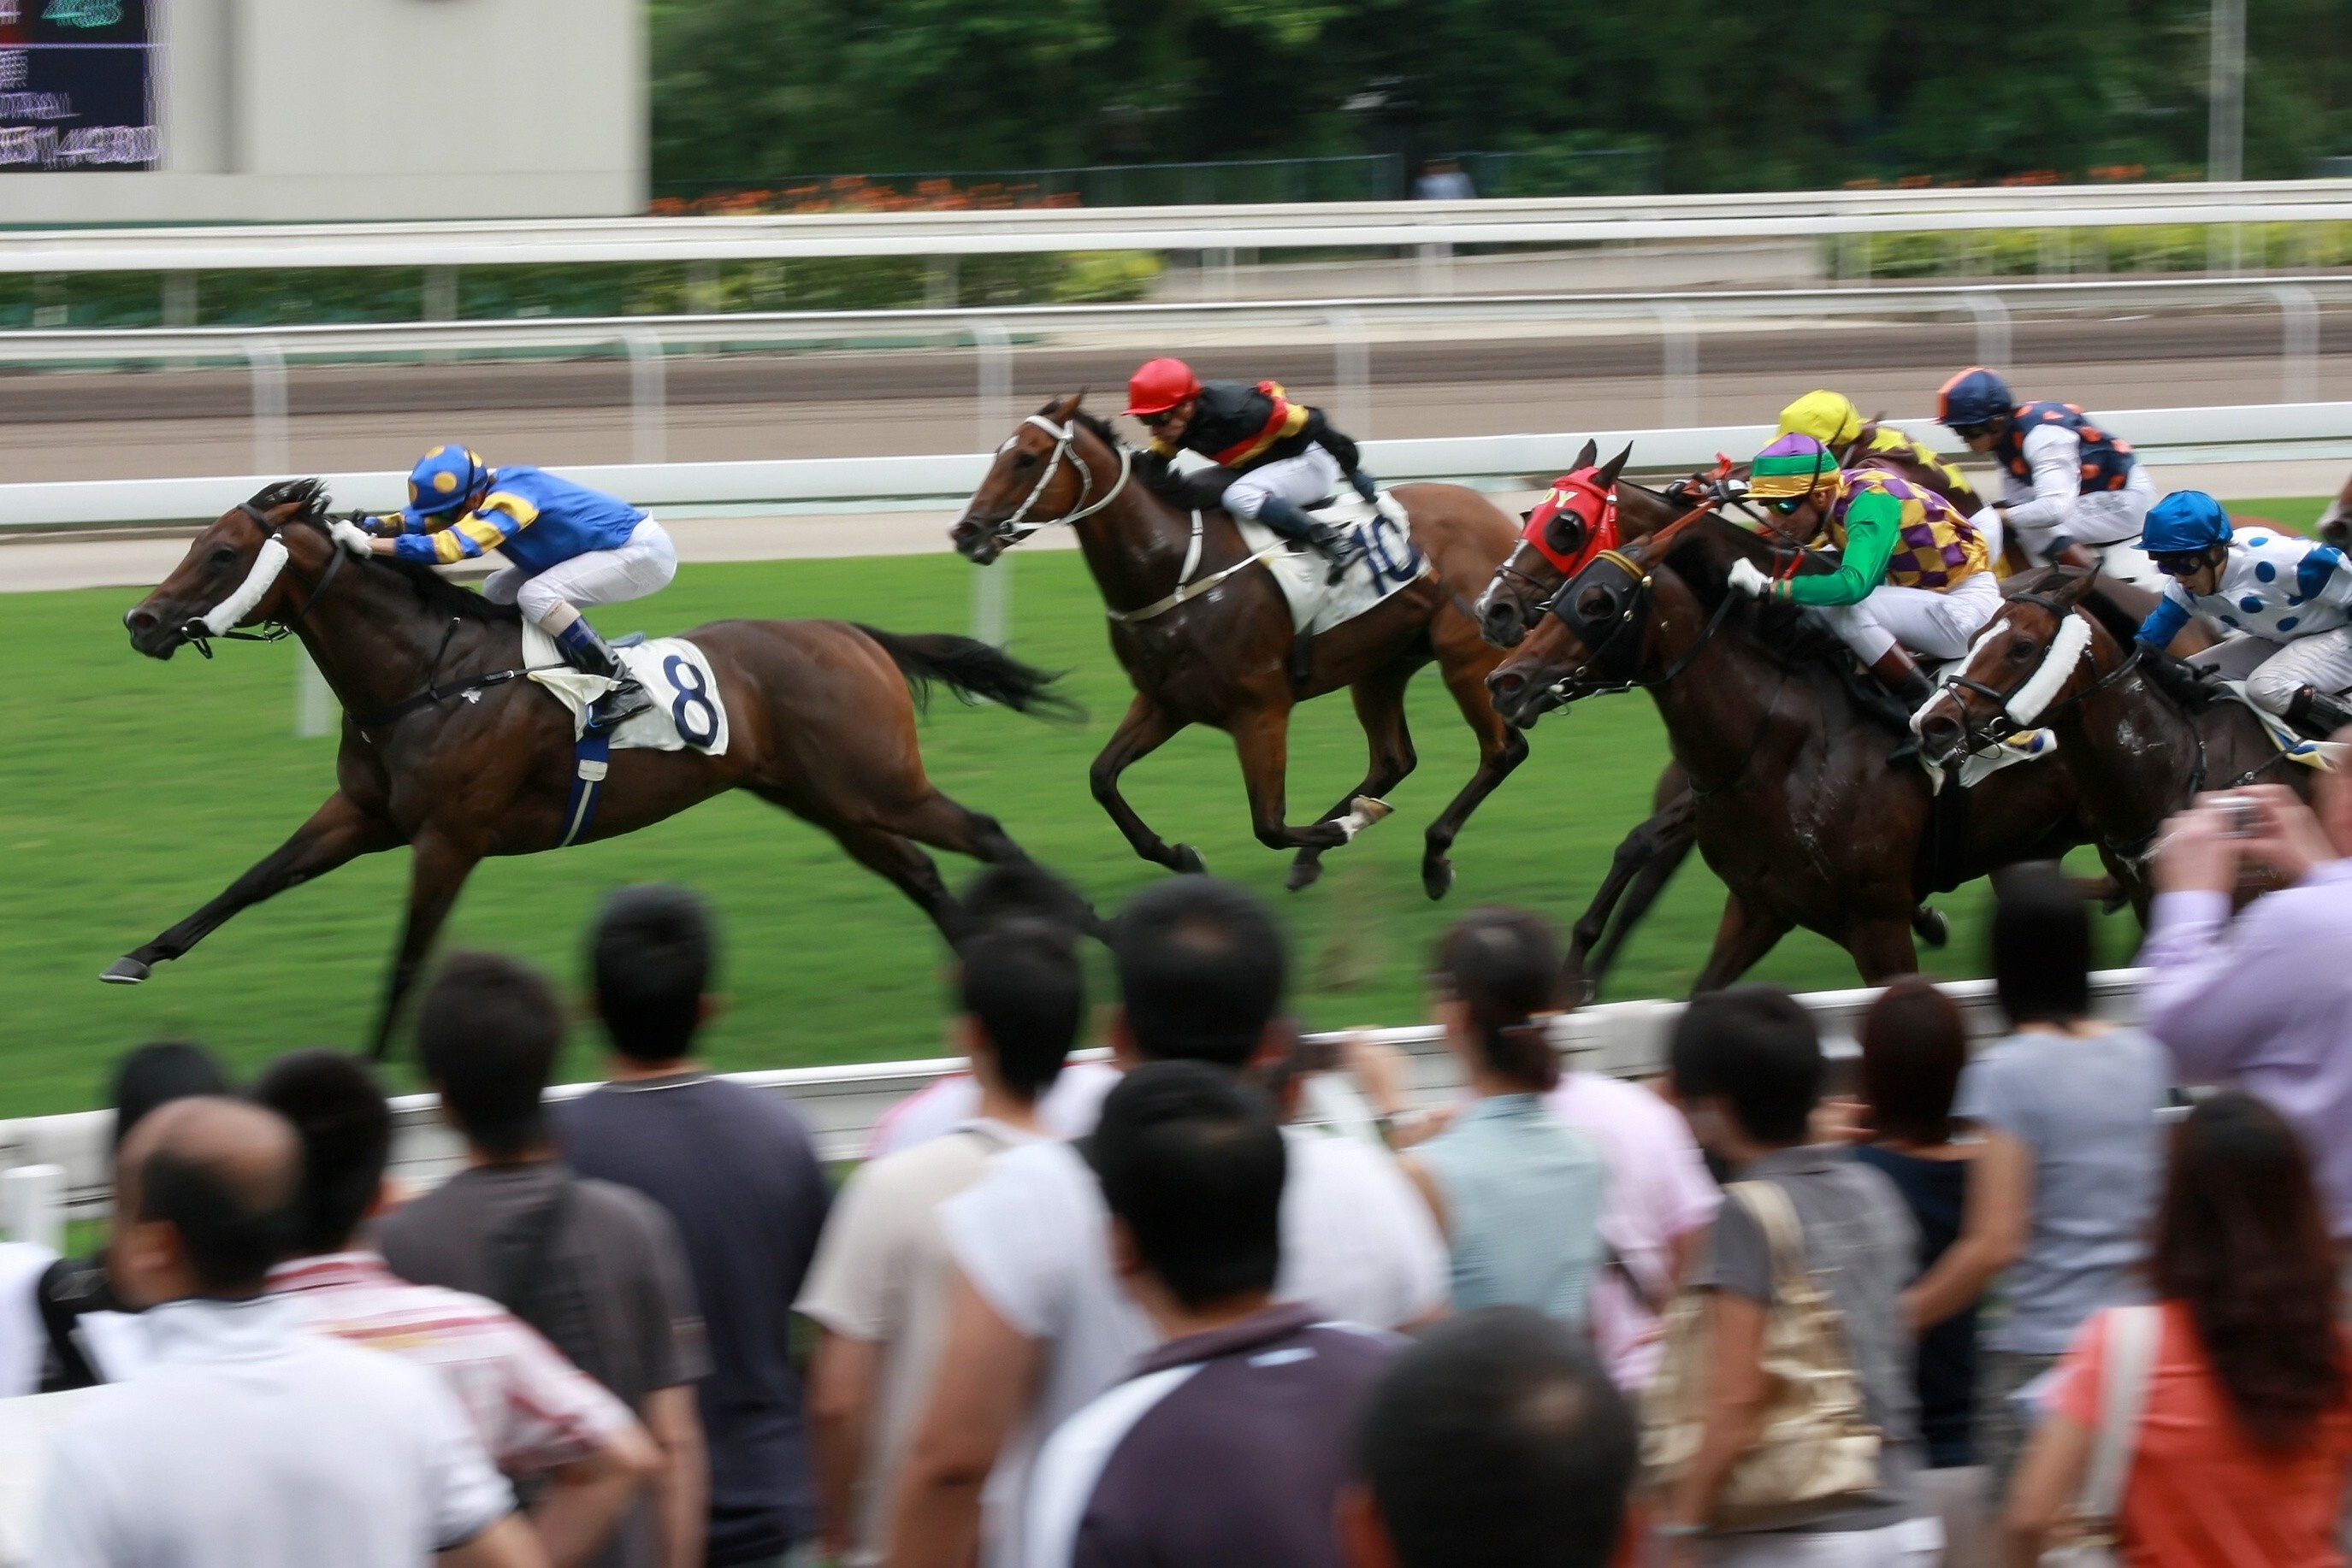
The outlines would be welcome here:
[[[2117,1023],[2133,1018],[2138,976],[2140,971],[2136,969],[2112,969],[2091,978],[2093,1006],[2103,1018]],[[1957,980],[1943,990],[1959,1001],[1971,1037],[1990,1039],[2002,1030],[1999,1006],[1992,999],[1992,980]],[[1809,992],[1797,999],[1820,1025],[1830,1056],[1846,1058],[1853,1053],[1853,1025],[1877,994],[1877,990],[1865,987]],[[1562,1016],[1552,1030],[1552,1039],[1578,1067],[1613,1077],[1649,1077],[1665,1070],[1668,1037],[1679,1016],[1679,1001],[1606,1001]],[[1315,1034],[1310,1039],[1338,1041],[1341,1037]],[[1461,1093],[1461,1070],[1446,1053],[1437,1030],[1428,1025],[1374,1030],[1374,1039],[1383,1039],[1406,1053],[1411,1063],[1411,1095],[1418,1105],[1435,1105]],[[1091,1051],[1082,1056],[1101,1060],[1103,1053]],[[809,1124],[818,1154],[828,1161],[844,1161],[866,1154],[873,1128],[889,1107],[960,1070],[962,1060],[948,1058],[863,1067],[788,1067],[781,1072],[739,1072],[729,1077],[788,1098]],[[593,1084],[564,1084],[550,1088],[548,1098],[569,1100],[588,1088]],[[393,1114],[395,1175],[430,1185],[459,1166],[463,1147],[442,1126],[433,1095],[400,1095],[393,1103]],[[54,1229],[61,1225],[61,1213],[73,1218],[106,1213],[113,1182],[113,1124],[115,1114],[111,1110],[0,1121],[0,1185],[12,1182],[21,1171],[31,1168],[56,1168],[64,1173],[61,1178],[33,1178],[54,1194],[47,1201],[61,1206],[61,1211],[31,1222]],[[28,1180],[26,1185],[31,1187],[33,1182]]]

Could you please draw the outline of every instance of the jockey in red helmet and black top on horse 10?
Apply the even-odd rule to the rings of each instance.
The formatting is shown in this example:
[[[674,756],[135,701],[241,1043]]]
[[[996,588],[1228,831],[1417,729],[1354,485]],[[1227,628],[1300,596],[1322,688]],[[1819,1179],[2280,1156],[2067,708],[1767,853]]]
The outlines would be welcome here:
[[[1192,505],[1223,505],[1345,564],[1345,541],[1301,508],[1341,482],[1364,501],[1378,489],[1357,465],[1355,442],[1322,409],[1291,402],[1279,381],[1204,383],[1183,360],[1150,360],[1127,381],[1127,411],[1152,433],[1150,451],[1162,463],[1197,451],[1218,465],[1188,484]]]

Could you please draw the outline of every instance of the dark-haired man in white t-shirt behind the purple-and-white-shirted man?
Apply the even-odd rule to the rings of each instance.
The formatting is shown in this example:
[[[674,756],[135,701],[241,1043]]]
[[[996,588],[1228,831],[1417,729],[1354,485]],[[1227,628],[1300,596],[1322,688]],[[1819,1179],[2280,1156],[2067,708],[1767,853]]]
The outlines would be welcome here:
[[[1160,882],[1112,933],[1127,1065],[1204,1060],[1230,1072],[1279,1065],[1284,947],[1265,905],[1207,877]],[[1355,1138],[1284,1133],[1277,1300],[1395,1328],[1444,1305],[1444,1244],[1395,1159]],[[1037,1441],[1115,1385],[1155,1331],[1120,1288],[1103,1190],[1063,1143],[997,1154],[988,1175],[938,1208],[955,1253],[948,1349],[908,1446],[891,1505],[894,1568],[971,1561],[988,1500],[988,1552],[1025,1561],[1021,1500]]]

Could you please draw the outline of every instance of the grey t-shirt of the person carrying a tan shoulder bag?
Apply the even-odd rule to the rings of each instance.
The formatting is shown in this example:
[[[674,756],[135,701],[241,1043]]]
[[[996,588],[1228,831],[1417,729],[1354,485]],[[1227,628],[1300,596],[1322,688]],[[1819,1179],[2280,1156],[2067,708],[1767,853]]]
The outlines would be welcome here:
[[[1900,1295],[1919,1272],[1919,1232],[1879,1171],[1844,1147],[1778,1150],[1738,1173],[1778,1185],[1804,1232],[1806,1269],[1830,1288],[1846,1331],[1846,1354],[1863,1380],[1863,1418],[1879,1429],[1879,1490],[1799,1530],[1882,1530],[1919,1509],[1912,1476],[1919,1450],[1919,1394],[1912,1389],[1912,1335]],[[1771,1244],[1743,1204],[1724,1201],[1693,1284],[1773,1302]]]

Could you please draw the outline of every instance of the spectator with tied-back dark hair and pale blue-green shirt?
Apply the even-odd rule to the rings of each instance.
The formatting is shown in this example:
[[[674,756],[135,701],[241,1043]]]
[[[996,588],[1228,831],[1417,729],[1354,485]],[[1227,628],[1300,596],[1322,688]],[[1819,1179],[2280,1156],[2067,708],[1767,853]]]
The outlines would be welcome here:
[[[1477,1100],[1404,1157],[1454,1248],[1454,1307],[1534,1307],[1583,1326],[1606,1175],[1543,1103],[1559,1086],[1559,945],[1543,917],[1477,910],[1437,947],[1437,1020]]]

